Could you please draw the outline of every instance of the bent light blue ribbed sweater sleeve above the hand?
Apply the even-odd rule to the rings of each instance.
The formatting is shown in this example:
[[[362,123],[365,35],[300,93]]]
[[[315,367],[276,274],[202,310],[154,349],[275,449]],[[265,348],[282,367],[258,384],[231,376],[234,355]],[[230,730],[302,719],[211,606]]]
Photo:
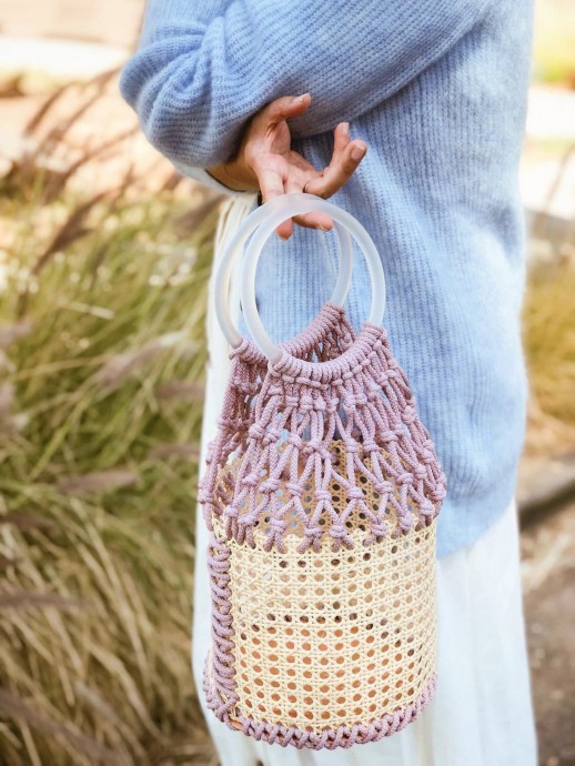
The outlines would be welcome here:
[[[393,95],[471,30],[493,0],[148,0],[120,78],[168,159],[226,162],[245,123],[312,94],[294,138],[331,131]]]

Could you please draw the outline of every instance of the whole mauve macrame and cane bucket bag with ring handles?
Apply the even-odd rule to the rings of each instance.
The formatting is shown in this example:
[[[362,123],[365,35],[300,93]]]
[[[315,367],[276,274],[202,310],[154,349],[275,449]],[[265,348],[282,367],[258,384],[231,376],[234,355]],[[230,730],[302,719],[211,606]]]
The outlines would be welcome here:
[[[312,324],[282,346],[255,304],[274,229],[324,211],[340,275]],[[226,311],[241,272],[242,339]],[[351,239],[372,280],[354,336],[343,302]],[[224,253],[216,313],[232,365],[200,502],[209,531],[212,642],[209,708],[245,735],[299,748],[350,747],[411,723],[436,682],[435,534],[445,477],[404,371],[381,326],[381,259],[350,213],[312,194],[260,206]]]

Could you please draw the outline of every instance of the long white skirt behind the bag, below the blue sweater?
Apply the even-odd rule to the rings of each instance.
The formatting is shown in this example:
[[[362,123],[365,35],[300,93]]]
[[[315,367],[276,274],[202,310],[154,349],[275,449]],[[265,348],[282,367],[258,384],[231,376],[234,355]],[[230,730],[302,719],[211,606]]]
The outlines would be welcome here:
[[[250,205],[234,200],[224,211],[215,263]],[[232,315],[238,313],[235,285],[232,280]],[[212,306],[210,300],[202,470],[229,364]],[[403,732],[331,752],[256,742],[229,729],[206,708],[202,673],[211,642],[211,601],[208,535],[200,510],[195,534],[192,669],[221,766],[537,766],[514,502],[472,546],[436,563],[438,681],[433,701]]]

